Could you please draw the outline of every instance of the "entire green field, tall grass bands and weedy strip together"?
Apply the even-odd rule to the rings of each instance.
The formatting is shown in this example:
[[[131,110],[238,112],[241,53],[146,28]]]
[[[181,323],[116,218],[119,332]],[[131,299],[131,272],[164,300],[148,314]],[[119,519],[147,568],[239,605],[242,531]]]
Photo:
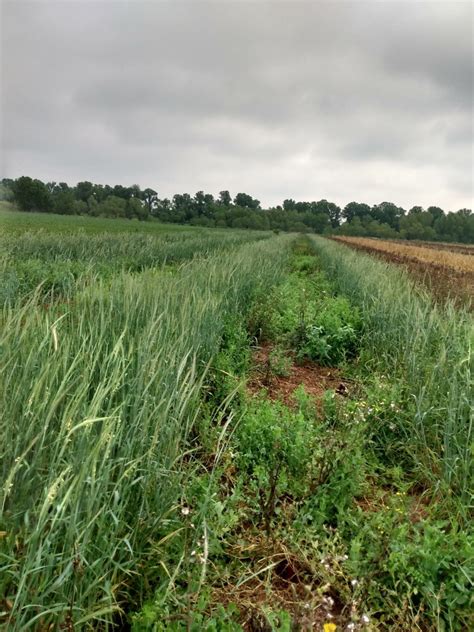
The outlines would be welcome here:
[[[0,625],[472,628],[467,309],[321,237],[56,219],[0,215]]]

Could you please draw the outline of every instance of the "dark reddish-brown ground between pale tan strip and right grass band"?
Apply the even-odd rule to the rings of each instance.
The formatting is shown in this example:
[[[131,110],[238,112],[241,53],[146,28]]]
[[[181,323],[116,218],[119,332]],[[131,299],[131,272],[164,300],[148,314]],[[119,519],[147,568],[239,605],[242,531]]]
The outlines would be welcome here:
[[[428,288],[439,302],[453,300],[456,305],[474,310],[474,274],[470,272],[424,263],[415,258],[383,252],[362,244],[341,241],[339,243],[344,243],[349,248],[366,252],[383,261],[403,266],[407,273],[417,283]]]

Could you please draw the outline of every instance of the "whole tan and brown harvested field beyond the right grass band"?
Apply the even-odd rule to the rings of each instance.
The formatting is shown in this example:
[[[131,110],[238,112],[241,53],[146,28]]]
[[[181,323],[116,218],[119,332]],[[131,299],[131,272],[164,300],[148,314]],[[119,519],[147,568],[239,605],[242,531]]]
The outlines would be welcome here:
[[[386,261],[405,266],[417,281],[442,300],[472,306],[474,247],[466,244],[403,242],[364,237],[337,237],[338,241]]]

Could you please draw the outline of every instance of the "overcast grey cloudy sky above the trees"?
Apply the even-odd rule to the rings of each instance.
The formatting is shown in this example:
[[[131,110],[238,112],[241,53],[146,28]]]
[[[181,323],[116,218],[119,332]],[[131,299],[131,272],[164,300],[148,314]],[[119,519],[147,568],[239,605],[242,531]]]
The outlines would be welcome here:
[[[1,177],[472,208],[472,2],[1,0],[1,42]]]

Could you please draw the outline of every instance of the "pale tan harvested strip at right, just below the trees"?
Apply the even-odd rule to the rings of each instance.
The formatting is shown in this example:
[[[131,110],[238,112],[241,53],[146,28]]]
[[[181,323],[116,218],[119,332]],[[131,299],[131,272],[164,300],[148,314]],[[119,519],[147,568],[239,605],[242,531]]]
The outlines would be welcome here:
[[[448,252],[424,246],[405,245],[400,242],[370,239],[366,237],[336,237],[337,241],[364,246],[372,250],[379,250],[393,255],[409,257],[423,263],[452,268],[456,272],[474,274],[474,259],[466,254]]]

